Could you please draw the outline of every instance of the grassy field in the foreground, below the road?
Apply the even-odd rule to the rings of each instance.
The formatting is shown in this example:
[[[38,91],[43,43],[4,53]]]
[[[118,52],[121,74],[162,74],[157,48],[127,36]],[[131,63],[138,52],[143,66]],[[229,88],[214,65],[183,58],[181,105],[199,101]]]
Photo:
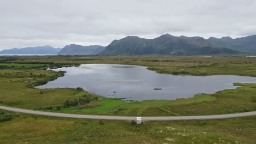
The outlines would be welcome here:
[[[0,122],[0,143],[255,143],[256,135],[256,117],[136,125],[131,121],[10,115],[15,116],[11,121]]]

